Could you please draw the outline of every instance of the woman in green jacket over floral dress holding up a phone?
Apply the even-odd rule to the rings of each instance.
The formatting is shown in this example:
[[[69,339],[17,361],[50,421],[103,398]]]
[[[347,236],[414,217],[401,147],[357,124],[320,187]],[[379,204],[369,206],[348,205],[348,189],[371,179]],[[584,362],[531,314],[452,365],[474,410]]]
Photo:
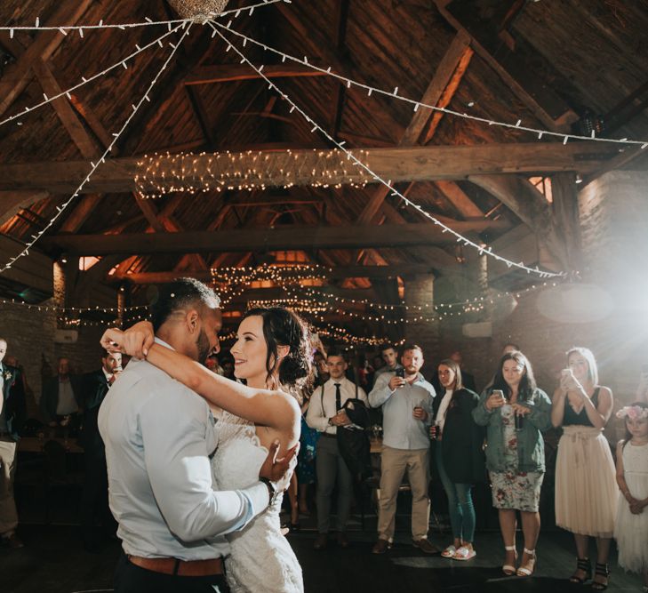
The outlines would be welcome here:
[[[486,427],[486,467],[492,505],[499,509],[506,550],[502,571],[530,576],[540,534],[540,487],[545,472],[541,432],[551,427],[551,401],[538,389],[532,366],[519,351],[501,357],[492,388],[484,390],[473,418]],[[516,510],[522,517],[524,554],[516,570]]]

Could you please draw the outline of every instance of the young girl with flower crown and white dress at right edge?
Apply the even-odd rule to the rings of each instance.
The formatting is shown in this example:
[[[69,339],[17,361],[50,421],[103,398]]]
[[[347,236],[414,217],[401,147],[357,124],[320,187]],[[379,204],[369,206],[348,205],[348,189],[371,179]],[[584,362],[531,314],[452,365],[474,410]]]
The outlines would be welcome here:
[[[617,445],[617,484],[623,498],[617,506],[614,537],[619,565],[643,573],[648,592],[648,404],[621,408],[617,418],[626,422],[626,438]]]

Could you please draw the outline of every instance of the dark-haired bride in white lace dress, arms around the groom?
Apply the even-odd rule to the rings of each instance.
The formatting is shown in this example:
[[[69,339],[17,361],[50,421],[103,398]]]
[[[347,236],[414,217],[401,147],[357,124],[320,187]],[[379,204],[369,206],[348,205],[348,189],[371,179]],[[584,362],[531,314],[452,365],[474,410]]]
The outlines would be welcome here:
[[[310,376],[308,331],[300,317],[283,308],[250,309],[231,349],[237,379],[247,388],[197,365],[172,349],[153,343],[153,326],[133,325],[125,333],[104,333],[104,348],[117,346],[143,357],[228,412],[217,423],[219,445],[212,458],[214,488],[230,490],[258,481],[268,448],[277,440],[283,451],[300,439],[300,407],[287,390],[296,390]],[[253,388],[253,389],[249,389]],[[259,391],[272,389],[272,391]],[[248,420],[244,420],[244,418]],[[235,593],[301,593],[300,564],[280,532],[283,494],[243,530],[230,533],[226,558],[230,589]]]

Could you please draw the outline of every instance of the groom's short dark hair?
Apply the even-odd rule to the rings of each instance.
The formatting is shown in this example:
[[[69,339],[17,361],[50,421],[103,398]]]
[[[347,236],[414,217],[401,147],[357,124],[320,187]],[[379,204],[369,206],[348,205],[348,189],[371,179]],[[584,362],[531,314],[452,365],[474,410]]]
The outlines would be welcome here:
[[[158,286],[156,297],[151,303],[153,330],[157,332],[173,311],[201,306],[218,309],[220,297],[195,278],[176,278],[170,284]]]

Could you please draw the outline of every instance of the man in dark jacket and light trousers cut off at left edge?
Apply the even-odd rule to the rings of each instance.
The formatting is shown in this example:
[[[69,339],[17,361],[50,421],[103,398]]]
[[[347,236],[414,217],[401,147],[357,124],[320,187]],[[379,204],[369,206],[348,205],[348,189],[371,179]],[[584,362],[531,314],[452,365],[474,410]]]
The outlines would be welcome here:
[[[16,473],[16,444],[25,423],[25,391],[20,371],[4,365],[7,341],[0,338],[0,537],[11,548],[22,548],[16,535],[18,512],[13,500],[13,479]]]

